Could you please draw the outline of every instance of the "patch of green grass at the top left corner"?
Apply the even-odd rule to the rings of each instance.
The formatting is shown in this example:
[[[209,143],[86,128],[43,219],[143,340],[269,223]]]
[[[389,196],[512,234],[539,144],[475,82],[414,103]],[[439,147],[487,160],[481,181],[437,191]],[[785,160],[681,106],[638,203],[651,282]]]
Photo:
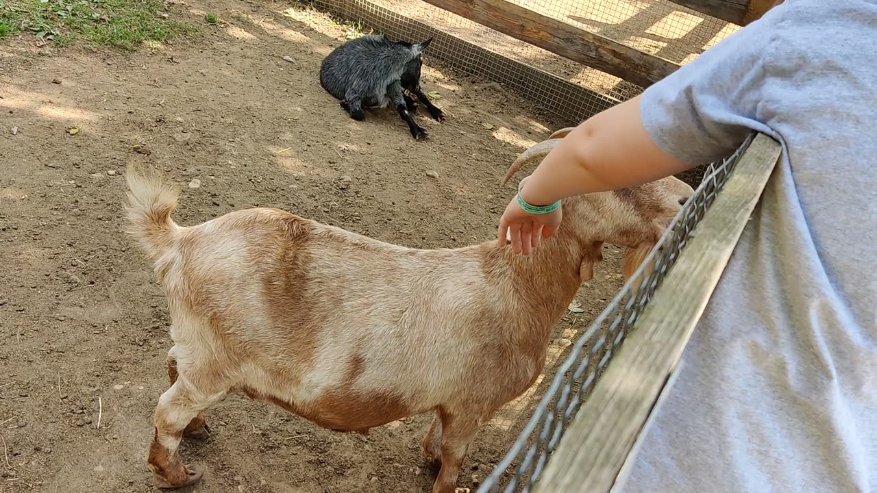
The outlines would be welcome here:
[[[0,39],[24,31],[62,46],[85,41],[132,49],[194,32],[168,17],[161,0],[0,0]]]

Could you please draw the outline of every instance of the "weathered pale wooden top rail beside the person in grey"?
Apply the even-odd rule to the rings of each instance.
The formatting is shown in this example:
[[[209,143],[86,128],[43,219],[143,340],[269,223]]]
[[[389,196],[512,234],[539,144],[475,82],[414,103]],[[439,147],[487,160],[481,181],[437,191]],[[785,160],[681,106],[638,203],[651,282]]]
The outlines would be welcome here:
[[[682,350],[781,154],[759,134],[573,418],[534,493],[610,491],[666,395]]]

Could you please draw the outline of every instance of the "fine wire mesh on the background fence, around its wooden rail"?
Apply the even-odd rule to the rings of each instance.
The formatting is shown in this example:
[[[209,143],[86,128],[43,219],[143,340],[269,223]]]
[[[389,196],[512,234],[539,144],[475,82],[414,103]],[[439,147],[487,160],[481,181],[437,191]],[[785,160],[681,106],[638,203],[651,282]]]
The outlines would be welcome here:
[[[548,18],[676,63],[739,27],[669,0],[509,0]],[[576,124],[643,88],[423,0],[307,0],[317,10],[396,39],[433,38],[427,58],[504,84]]]

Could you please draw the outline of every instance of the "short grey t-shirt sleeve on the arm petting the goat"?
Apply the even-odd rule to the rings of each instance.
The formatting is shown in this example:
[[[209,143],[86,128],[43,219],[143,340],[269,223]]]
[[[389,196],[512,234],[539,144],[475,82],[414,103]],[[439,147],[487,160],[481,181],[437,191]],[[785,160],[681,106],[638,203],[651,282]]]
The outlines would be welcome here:
[[[654,143],[691,165],[731,154],[757,130],[776,7],[645,89],[640,114]]]

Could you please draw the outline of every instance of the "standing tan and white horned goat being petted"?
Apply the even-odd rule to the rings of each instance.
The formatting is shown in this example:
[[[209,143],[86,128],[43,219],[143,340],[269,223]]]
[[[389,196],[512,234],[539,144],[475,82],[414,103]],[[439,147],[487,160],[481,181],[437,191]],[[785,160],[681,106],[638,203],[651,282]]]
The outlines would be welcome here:
[[[173,320],[147,459],[162,488],[200,479],[180,440],[205,434],[203,411],[239,390],[337,431],[435,411],[423,440],[441,465],[432,491],[453,492],[479,426],[541,372],[602,244],[654,243],[691,194],[667,178],[569,198],[559,231],[525,257],[496,241],[398,247],[274,209],[182,227],[175,189],[132,168],[126,178],[131,232]]]

